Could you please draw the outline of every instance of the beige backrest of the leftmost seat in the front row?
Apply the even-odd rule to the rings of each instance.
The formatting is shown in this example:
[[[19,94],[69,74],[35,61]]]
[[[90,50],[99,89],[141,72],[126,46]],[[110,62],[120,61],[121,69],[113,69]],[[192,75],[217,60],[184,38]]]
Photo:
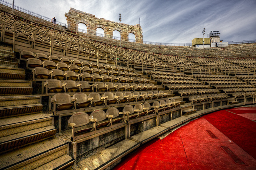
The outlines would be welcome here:
[[[84,112],[76,112],[68,119],[68,123],[76,123],[75,127],[84,126],[90,123],[89,115]]]

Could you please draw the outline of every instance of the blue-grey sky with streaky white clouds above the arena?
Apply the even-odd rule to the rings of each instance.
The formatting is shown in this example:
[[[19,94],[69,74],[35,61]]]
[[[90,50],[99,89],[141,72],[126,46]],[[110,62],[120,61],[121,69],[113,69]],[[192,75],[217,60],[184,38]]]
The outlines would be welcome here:
[[[191,43],[204,27],[205,37],[218,30],[223,41],[256,39],[256,0],[15,0],[15,5],[63,23],[70,8],[116,22],[121,13],[121,22],[129,25],[140,18],[144,41]]]

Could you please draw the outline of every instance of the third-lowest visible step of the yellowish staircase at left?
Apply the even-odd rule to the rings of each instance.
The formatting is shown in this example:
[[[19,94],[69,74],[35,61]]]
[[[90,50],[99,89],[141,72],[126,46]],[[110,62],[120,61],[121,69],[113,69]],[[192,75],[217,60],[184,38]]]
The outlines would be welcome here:
[[[54,126],[46,126],[0,138],[0,150],[6,152],[36,141],[52,137],[57,132]]]

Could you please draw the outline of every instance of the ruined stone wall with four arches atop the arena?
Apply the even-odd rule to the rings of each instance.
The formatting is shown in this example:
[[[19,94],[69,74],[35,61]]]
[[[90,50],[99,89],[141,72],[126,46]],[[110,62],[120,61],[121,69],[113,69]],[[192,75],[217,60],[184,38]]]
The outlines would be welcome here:
[[[121,27],[121,40],[128,41],[129,33],[133,33],[136,38],[136,43],[142,43],[142,28],[139,24],[128,25],[121,23],[119,27],[118,22],[105,20],[104,18],[96,18],[95,15],[88,14],[74,8],[70,8],[68,13],[65,13],[66,20],[68,22],[68,29],[70,31],[78,32],[78,24],[84,23],[87,27],[87,31],[96,34],[97,28],[104,30],[105,37],[112,38],[113,31],[120,32]]]

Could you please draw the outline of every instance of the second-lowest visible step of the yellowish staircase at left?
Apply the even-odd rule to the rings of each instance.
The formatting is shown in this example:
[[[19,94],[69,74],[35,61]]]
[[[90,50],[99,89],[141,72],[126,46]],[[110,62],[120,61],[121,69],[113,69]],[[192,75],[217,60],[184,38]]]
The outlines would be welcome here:
[[[40,168],[40,166],[44,166],[55,159],[57,159],[57,162],[59,161],[59,163],[62,163],[63,160],[67,160],[68,162],[70,161],[68,156],[62,157],[68,154],[68,145],[68,143],[63,142],[56,137],[52,137],[26,147],[1,154],[0,169],[32,170]],[[56,166],[58,165],[57,162],[55,161]]]

